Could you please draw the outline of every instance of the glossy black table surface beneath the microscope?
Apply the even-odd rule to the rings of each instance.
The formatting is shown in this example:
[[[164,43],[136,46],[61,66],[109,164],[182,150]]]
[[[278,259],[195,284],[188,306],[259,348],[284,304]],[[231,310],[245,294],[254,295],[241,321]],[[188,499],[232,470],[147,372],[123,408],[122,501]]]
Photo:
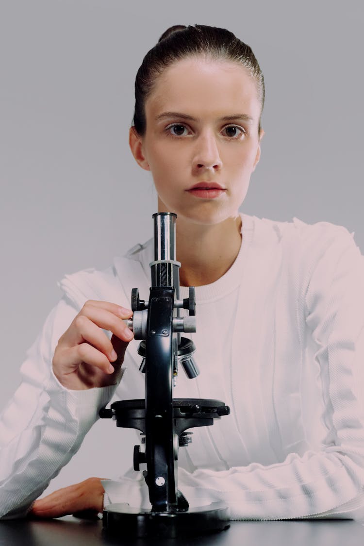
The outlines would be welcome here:
[[[71,516],[55,520],[0,522],[0,545],[7,546],[363,546],[364,526],[350,520],[232,521],[229,529],[193,538],[128,539],[122,530],[108,537],[102,521]]]

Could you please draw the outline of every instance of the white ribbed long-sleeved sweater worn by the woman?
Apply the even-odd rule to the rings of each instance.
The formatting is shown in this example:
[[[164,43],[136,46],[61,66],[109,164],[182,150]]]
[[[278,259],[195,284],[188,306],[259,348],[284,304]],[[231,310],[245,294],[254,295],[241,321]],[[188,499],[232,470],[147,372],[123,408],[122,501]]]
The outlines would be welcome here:
[[[134,286],[147,297],[151,259],[149,242],[109,270],[62,281],[65,296],[3,413],[1,514],[26,511],[115,390],[63,388],[51,372],[59,337],[87,299],[128,306]],[[181,370],[175,396],[218,398],[231,414],[180,449],[178,486],[190,505],[223,500],[234,519],[364,517],[364,260],[353,236],[327,222],[242,215],[236,262],[197,287],[196,300],[201,375]],[[137,346],[120,399],[144,397]],[[147,505],[134,471],[104,486],[112,502]]]

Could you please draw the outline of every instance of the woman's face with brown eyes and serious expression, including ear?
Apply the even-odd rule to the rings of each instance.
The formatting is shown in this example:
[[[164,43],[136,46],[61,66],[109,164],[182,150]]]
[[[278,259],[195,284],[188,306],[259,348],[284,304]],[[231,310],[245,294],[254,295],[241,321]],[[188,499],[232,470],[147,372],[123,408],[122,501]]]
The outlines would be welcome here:
[[[235,217],[260,157],[255,82],[228,61],[186,58],[166,68],[146,100],[146,133],[130,129],[151,170],[158,210],[198,224]]]

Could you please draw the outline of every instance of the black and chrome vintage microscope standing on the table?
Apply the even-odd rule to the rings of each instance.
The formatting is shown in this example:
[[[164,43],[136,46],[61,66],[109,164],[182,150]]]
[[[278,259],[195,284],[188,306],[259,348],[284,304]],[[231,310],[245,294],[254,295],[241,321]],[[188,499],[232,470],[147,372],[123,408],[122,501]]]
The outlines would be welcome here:
[[[195,292],[180,299],[180,262],[176,261],[176,214],[158,212],[154,221],[154,261],[151,262],[149,300],[132,290],[133,318],[129,328],[140,340],[140,371],[145,373],[145,399],[121,400],[103,408],[100,417],[112,418],[116,426],[141,432],[142,446],[134,447],[134,470],[146,465],[143,475],[151,509],[140,510],[124,503],[104,508],[105,532],[133,537],[174,538],[202,535],[229,527],[229,509],[220,502],[189,509],[178,489],[178,449],[192,441],[188,429],[212,425],[230,413],[219,400],[174,399],[178,365],[190,379],[199,375],[193,359],[194,343],[182,333],[195,332]],[[181,316],[181,309],[188,316]]]

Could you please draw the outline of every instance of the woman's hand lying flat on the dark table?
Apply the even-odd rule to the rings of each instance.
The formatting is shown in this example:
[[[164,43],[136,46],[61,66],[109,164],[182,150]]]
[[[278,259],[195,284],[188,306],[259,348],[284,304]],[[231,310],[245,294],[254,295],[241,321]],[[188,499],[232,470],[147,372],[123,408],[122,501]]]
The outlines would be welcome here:
[[[77,512],[88,514],[103,511],[104,488],[102,478],[88,478],[83,482],[69,485],[54,491],[34,502],[28,513],[36,518],[61,518],[63,515],[77,515]]]

